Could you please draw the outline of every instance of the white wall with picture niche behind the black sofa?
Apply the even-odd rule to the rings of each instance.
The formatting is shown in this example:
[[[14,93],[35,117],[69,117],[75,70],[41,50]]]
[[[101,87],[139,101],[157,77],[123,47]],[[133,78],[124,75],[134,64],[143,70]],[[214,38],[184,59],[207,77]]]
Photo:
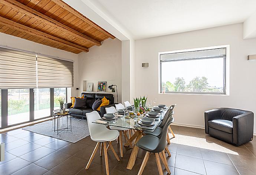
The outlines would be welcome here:
[[[122,101],[122,42],[107,39],[102,46],[93,46],[88,53],[79,53],[78,87],[79,94],[86,90],[87,82],[93,82],[93,91],[97,91],[97,82],[106,81],[106,87],[115,84],[118,87],[118,100]],[[83,81],[86,83],[83,83]],[[84,84],[84,85],[83,85]],[[84,87],[83,87],[84,86]],[[114,88],[116,88],[114,86]],[[106,93],[111,92],[106,88]],[[114,93],[116,102],[116,93]]]

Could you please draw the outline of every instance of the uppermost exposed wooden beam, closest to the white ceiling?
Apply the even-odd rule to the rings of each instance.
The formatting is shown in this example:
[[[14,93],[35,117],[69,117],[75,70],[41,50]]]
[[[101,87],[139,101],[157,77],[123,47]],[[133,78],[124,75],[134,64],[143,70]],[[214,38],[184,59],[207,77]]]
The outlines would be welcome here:
[[[52,0],[53,2],[55,2],[56,4],[58,4],[60,7],[62,7],[65,10],[68,10],[70,13],[72,13],[73,15],[79,17],[80,19],[84,20],[86,23],[92,25],[93,27],[95,27],[96,29],[98,29],[99,31],[101,31],[102,33],[106,34],[108,37],[115,39],[115,36],[113,36],[112,34],[110,34],[109,32],[107,32],[106,30],[102,29],[100,26],[98,26],[97,24],[93,23],[91,20],[89,20],[87,17],[83,16],[83,14],[81,14],[80,12],[78,12],[77,10],[73,9],[73,7],[69,6],[68,4],[66,4],[65,2],[63,2],[62,0]]]

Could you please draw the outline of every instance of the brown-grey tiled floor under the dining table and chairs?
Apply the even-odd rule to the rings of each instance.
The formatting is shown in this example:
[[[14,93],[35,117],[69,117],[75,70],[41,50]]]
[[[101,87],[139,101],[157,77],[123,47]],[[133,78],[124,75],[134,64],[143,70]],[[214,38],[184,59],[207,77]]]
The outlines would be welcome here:
[[[174,175],[255,175],[256,138],[236,147],[204,133],[203,129],[172,126],[175,138],[168,145],[172,156],[167,157]],[[169,134],[170,137],[172,136]],[[124,141],[125,139],[123,139]],[[90,137],[77,143],[69,143],[33,132],[16,129],[0,134],[0,142],[6,143],[6,157],[0,162],[0,175],[99,175],[105,174],[104,156],[99,152],[88,170],[85,166],[96,145]],[[112,143],[119,154],[119,145]],[[126,169],[131,148],[124,148],[124,158],[118,162],[108,151],[111,175],[136,175],[145,152],[139,150],[132,170]],[[162,165],[164,174],[167,171]],[[144,169],[144,175],[157,175],[154,155]]]

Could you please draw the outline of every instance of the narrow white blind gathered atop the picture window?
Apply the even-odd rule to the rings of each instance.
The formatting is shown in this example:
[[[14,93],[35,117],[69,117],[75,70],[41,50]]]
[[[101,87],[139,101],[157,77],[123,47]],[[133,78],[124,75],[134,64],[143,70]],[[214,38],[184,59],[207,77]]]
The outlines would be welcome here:
[[[190,59],[223,58],[226,57],[226,48],[199,50],[191,52],[168,53],[160,55],[160,62],[183,61]]]

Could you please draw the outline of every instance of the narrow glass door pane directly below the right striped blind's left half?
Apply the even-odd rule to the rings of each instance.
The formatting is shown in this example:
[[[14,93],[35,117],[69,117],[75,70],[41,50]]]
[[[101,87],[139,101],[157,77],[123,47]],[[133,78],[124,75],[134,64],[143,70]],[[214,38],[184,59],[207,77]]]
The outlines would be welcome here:
[[[34,118],[50,116],[50,88],[34,89]]]

